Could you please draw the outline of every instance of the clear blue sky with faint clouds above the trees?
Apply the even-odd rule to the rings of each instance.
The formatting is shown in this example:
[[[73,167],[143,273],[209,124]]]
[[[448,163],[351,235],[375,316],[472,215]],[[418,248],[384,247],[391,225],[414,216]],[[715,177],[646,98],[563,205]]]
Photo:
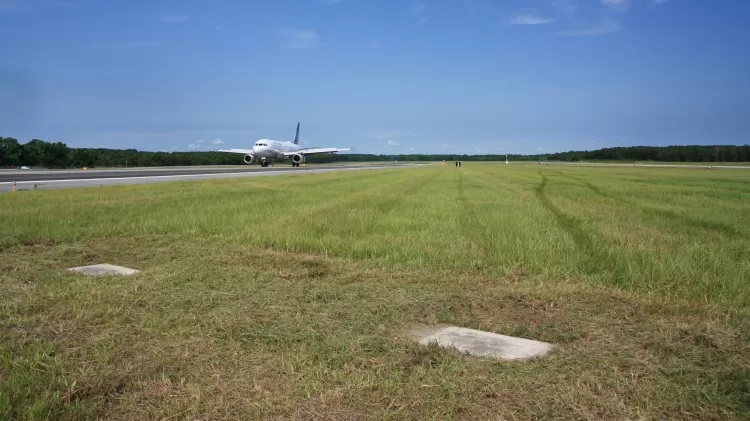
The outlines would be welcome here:
[[[360,153],[750,143],[746,0],[0,0],[0,135]]]

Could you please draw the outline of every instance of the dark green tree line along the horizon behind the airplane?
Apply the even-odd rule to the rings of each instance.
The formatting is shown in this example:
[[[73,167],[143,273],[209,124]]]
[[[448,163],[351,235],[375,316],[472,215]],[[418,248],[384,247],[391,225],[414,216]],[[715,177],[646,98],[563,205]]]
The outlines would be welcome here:
[[[631,146],[593,151],[569,151],[536,155],[508,155],[512,161],[657,161],[748,162],[750,145]],[[365,161],[503,161],[505,155],[457,154],[337,154],[312,155],[311,163]],[[241,155],[223,152],[148,152],[135,149],[70,148],[63,142],[33,139],[25,144],[0,137],[0,167],[42,168],[155,167],[241,164]]]

